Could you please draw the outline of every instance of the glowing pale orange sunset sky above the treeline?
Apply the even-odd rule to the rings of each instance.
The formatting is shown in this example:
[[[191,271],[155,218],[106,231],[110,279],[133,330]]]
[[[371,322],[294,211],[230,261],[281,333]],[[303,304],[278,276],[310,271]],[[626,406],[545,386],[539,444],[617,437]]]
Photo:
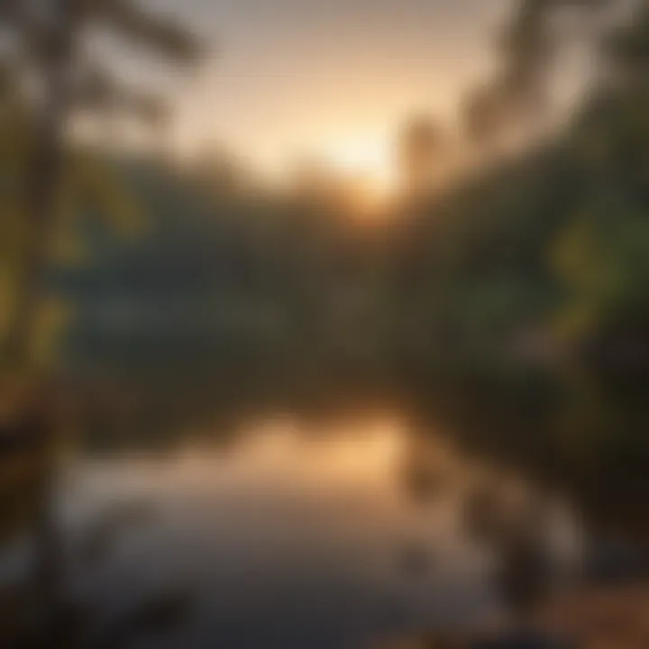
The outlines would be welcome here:
[[[212,42],[174,79],[174,139],[258,168],[362,164],[408,115],[452,118],[487,78],[511,0],[149,0]],[[168,79],[165,77],[165,79]],[[357,160],[355,160],[357,159]]]

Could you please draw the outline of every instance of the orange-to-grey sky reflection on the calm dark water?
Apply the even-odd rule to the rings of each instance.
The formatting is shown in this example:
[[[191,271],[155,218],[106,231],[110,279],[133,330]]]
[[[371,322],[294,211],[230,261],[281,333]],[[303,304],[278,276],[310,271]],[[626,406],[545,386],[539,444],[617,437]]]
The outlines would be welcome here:
[[[120,646],[343,649],[480,625],[503,607],[467,503],[494,475],[391,414],[267,417],[163,455],[75,452],[58,488],[66,589],[97,637],[129,628]],[[570,570],[579,528],[560,498],[546,516]],[[28,546],[3,557],[6,584]]]

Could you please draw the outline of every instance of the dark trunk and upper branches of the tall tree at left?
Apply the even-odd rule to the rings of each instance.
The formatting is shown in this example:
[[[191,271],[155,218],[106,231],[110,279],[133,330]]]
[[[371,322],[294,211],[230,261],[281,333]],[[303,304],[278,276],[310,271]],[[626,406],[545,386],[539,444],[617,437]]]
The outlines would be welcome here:
[[[7,343],[9,360],[20,365],[32,361],[41,286],[57,224],[69,120],[82,102],[128,105],[148,116],[155,114],[156,119],[160,114],[151,98],[124,90],[107,73],[79,80],[84,32],[98,25],[183,63],[196,60],[201,48],[174,21],[127,0],[5,0],[0,18],[17,37],[17,47],[38,87],[38,98],[28,107],[32,128],[23,200],[28,236]]]

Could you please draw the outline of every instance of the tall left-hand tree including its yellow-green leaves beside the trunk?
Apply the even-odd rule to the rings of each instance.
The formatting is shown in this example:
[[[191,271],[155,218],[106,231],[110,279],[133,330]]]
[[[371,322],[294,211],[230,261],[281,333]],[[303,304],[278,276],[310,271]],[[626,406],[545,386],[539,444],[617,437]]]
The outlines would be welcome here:
[[[84,156],[79,163],[79,151],[69,156],[69,121],[81,106],[110,111],[118,105],[153,123],[165,114],[157,99],[125,90],[105,72],[88,72],[81,49],[87,28],[113,29],[172,61],[195,62],[201,50],[176,21],[129,0],[59,0],[50,3],[47,14],[43,18],[37,6],[14,0],[0,11],[0,20],[11,31],[5,50],[25,63],[24,68],[11,65],[5,57],[0,72],[0,160],[5,163],[0,178],[17,186],[9,187],[15,197],[11,192],[5,197],[13,223],[10,253],[0,270],[9,296],[4,305],[9,316],[0,323],[0,361],[18,366],[31,365],[40,346],[41,301],[51,258],[57,253],[69,259],[80,256],[79,243],[67,233],[60,235],[59,226],[69,220],[65,217],[74,217],[90,202],[101,205],[103,215],[117,215],[122,226],[133,224],[133,209],[106,181],[99,160]],[[40,92],[24,92],[30,84]],[[68,166],[69,157],[76,160]]]

